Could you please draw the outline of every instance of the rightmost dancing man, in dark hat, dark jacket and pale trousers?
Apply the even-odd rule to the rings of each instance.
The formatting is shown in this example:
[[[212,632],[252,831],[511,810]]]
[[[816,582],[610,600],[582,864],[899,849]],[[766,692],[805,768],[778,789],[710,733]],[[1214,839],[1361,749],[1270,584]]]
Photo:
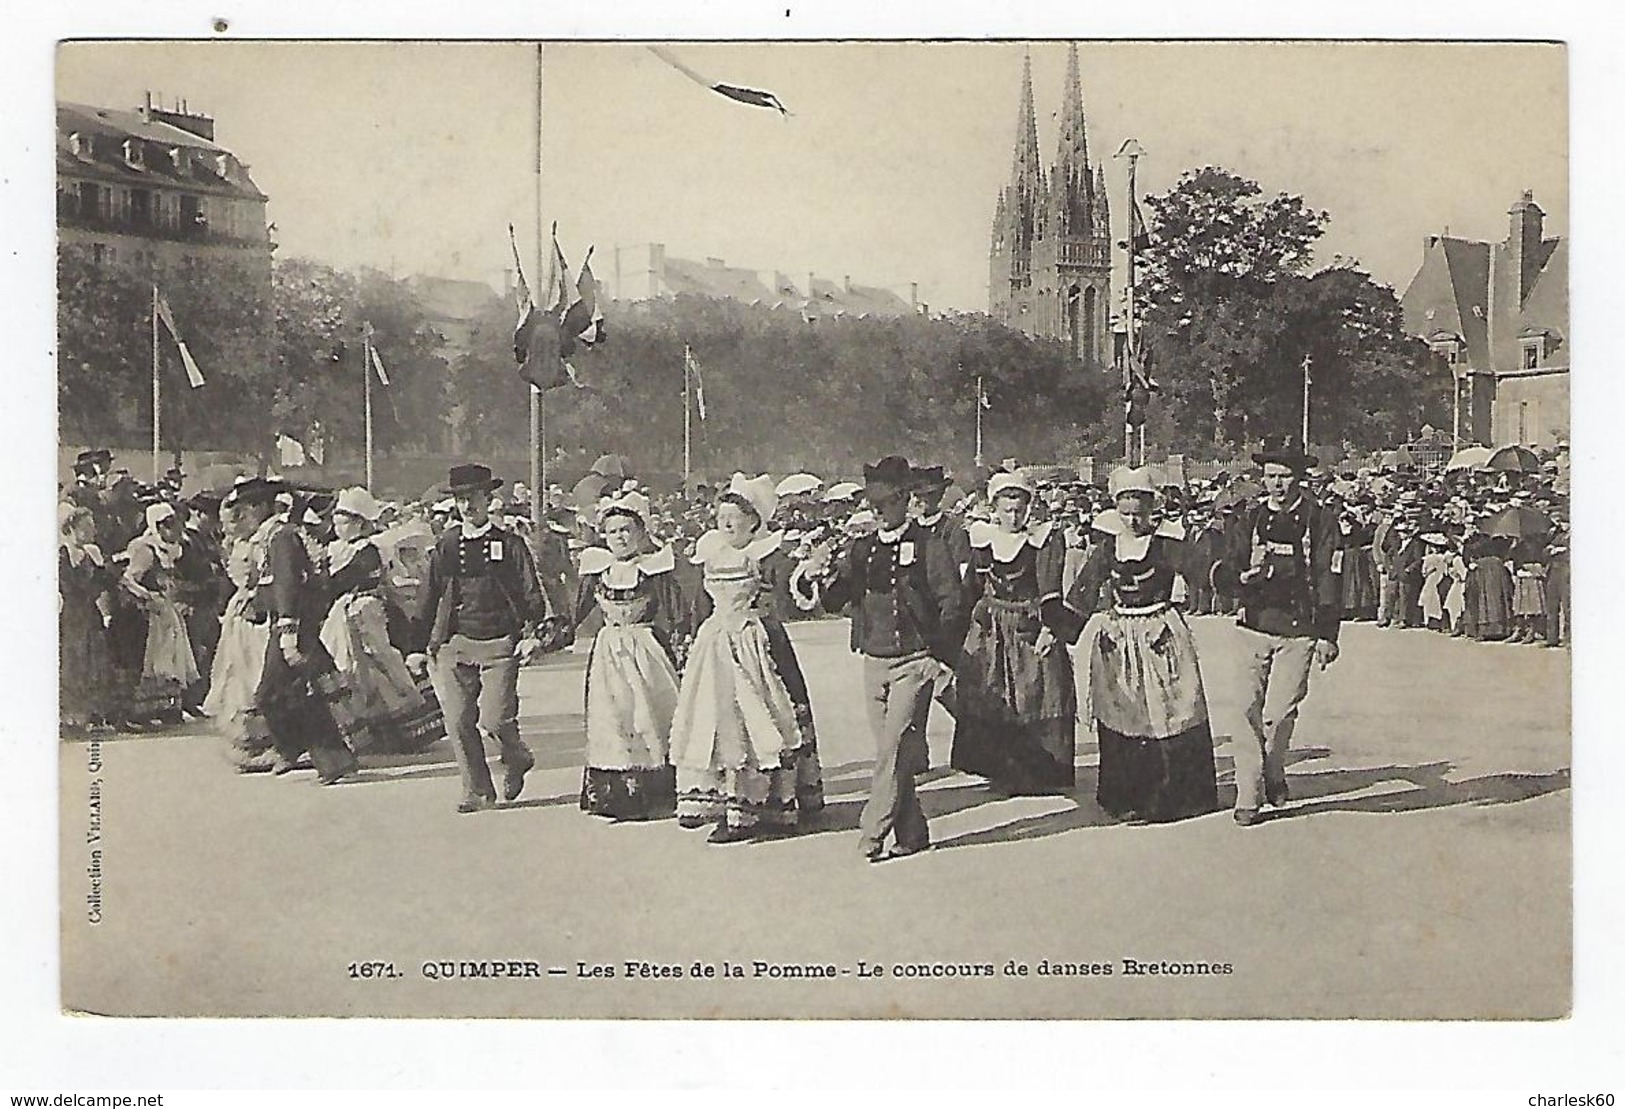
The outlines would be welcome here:
[[[1337,659],[1342,582],[1332,572],[1337,517],[1300,488],[1315,459],[1292,437],[1253,455],[1264,494],[1225,532],[1214,585],[1240,598],[1237,616],[1248,732],[1235,738],[1235,821],[1261,820],[1287,802],[1287,750],[1310,668]]]

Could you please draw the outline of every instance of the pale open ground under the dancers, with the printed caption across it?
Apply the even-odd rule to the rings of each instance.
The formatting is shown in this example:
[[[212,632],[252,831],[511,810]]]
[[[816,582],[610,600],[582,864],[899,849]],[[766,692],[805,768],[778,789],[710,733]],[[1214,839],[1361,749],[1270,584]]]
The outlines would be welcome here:
[[[1228,737],[1240,725],[1232,629],[1220,618],[1194,623],[1228,803]],[[1568,1011],[1566,649],[1354,624],[1342,659],[1315,676],[1294,740],[1292,803],[1256,828],[1227,811],[1113,824],[1094,805],[1097,751],[1081,730],[1072,797],[998,798],[980,779],[934,769],[921,779],[934,849],[866,865],[855,828],[873,753],[847,624],[798,624],[791,636],[829,810],[822,831],[786,841],[708,846],[704,831],[673,821],[580,813],[585,652],[523,673],[536,771],[518,802],[470,816],[455,811],[444,743],[322,789],[309,772],[234,774],[206,725],[63,742],[63,1007],[198,1016]],[[936,768],[947,764],[951,730],[934,709]],[[98,924],[88,920],[93,891]],[[1056,964],[1068,972],[1045,972]]]

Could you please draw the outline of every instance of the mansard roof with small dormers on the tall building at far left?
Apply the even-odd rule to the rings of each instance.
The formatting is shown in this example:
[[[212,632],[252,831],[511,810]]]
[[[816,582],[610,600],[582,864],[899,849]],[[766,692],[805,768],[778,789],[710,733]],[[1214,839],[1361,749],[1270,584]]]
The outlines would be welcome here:
[[[93,140],[94,150],[75,153],[72,135]],[[127,140],[141,143],[140,166],[125,161]],[[180,151],[179,164],[172,151]],[[224,174],[219,171],[221,156],[226,159]],[[57,101],[57,176],[266,200],[247,167],[219,143],[164,120],[148,120],[141,112],[68,101]]]

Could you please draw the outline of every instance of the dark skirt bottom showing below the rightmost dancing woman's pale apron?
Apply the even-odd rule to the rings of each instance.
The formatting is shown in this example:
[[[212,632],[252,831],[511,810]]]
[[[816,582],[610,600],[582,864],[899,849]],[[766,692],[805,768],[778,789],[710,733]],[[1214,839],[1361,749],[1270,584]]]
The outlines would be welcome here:
[[[1112,816],[1168,821],[1219,808],[1214,737],[1206,720],[1165,740],[1123,735],[1098,722],[1095,735],[1095,800]]]

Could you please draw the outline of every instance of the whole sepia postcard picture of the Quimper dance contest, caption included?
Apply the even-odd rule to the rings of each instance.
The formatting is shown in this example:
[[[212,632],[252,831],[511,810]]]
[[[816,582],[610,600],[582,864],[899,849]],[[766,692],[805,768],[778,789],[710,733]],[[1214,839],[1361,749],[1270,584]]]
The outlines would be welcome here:
[[[62,1011],[1568,1018],[1568,81],[60,42]]]

